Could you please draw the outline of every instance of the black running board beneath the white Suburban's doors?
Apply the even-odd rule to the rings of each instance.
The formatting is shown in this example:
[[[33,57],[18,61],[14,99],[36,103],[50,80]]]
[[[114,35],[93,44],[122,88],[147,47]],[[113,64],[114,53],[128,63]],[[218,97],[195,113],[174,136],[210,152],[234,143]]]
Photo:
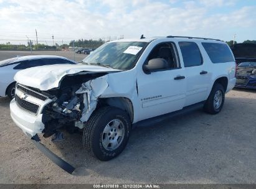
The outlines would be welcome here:
[[[173,118],[175,116],[180,116],[182,114],[186,114],[186,113],[189,113],[191,111],[201,109],[201,108],[204,107],[204,103],[205,103],[205,101],[202,101],[200,103],[196,103],[196,104],[192,104],[190,106],[186,106],[183,109],[180,109],[178,111],[174,111],[172,113],[167,113],[167,114],[163,114],[161,116],[156,116],[156,117],[153,117],[153,118],[149,118],[149,119],[145,119],[145,120],[136,122],[135,124],[133,124],[133,128],[135,128],[137,126],[151,126],[153,124],[157,124],[158,122],[164,121],[165,119],[170,119],[170,118]]]

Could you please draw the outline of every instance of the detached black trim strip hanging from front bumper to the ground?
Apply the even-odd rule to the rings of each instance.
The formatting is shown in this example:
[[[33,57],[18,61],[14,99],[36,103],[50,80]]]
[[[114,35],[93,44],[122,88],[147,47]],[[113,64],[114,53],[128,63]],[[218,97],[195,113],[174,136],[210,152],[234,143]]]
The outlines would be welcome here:
[[[40,139],[39,137],[36,135],[34,137],[31,137],[31,141],[34,143],[34,145],[36,145],[37,149],[39,149],[44,155],[46,155],[50,160],[52,160],[52,162],[54,162],[56,165],[58,165],[60,168],[62,168],[63,170],[65,170],[66,172],[72,174],[73,171],[75,170],[75,167],[73,167],[72,165],[70,165],[68,162],[65,162],[63,159],[61,159],[59,156],[57,156],[56,154],[54,154],[54,152],[50,151],[49,149],[47,149],[47,147],[45,147],[44,144],[41,144],[39,141]]]

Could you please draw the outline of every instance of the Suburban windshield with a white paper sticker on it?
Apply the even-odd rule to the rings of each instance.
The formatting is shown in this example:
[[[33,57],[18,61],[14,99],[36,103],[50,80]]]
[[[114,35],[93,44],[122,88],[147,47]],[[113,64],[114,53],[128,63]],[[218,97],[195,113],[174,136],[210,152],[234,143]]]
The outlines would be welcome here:
[[[130,70],[140,57],[147,42],[113,42],[103,44],[83,59],[83,63],[97,64],[118,70]]]

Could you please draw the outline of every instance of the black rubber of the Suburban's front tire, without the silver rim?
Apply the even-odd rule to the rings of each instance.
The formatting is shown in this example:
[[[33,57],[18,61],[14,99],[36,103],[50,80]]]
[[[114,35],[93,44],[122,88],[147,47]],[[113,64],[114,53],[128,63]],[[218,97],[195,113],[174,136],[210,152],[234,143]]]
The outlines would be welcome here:
[[[113,120],[121,121],[121,126],[123,127],[123,139],[121,139],[121,142],[118,144],[116,149],[109,150],[105,149],[102,142],[103,138],[106,136],[108,138],[108,135],[103,133],[103,131],[105,127]],[[97,109],[95,112],[93,112],[92,116],[87,121],[85,128],[83,129],[83,147],[89,152],[89,154],[97,157],[99,160],[107,161],[113,159],[121,154],[123,149],[125,149],[130,136],[130,129],[131,121],[125,111],[110,106]],[[115,136],[113,135],[113,137]],[[118,139],[120,138],[118,137]]]

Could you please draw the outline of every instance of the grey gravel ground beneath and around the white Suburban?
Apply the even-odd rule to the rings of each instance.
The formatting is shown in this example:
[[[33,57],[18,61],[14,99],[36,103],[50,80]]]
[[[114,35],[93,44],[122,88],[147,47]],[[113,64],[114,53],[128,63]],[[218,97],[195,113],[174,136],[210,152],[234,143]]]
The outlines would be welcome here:
[[[64,172],[10,118],[0,98],[0,183],[256,183],[256,91],[232,90],[222,111],[202,110],[137,127],[108,162],[90,157],[82,136],[42,143],[77,169]]]

